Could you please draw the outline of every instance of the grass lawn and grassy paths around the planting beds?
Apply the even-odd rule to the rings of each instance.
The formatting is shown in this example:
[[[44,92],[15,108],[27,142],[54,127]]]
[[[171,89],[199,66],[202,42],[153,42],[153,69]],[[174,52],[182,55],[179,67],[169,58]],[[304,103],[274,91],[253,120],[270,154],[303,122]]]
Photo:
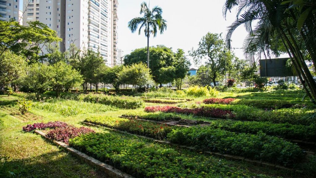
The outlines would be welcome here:
[[[293,93],[286,94],[284,97],[299,102],[298,98],[300,95],[290,98],[291,95],[293,96]],[[16,106],[16,101],[21,96],[23,95],[19,94],[10,97],[0,95],[0,170],[3,170],[0,172],[0,177],[106,177],[96,168],[81,162],[63,149],[47,142],[39,135],[23,132],[22,127],[27,124],[37,122],[47,123],[49,121],[63,121],[76,127],[81,127],[84,126],[81,122],[92,116],[117,117],[125,113],[144,111],[144,108],[123,110],[101,104],[65,99],[51,99],[47,100],[44,104],[34,102],[30,113],[22,116],[19,114]],[[253,99],[253,97],[263,98],[264,95],[249,92],[220,93],[219,98],[225,97],[237,97],[239,99],[245,97],[247,99]],[[203,98],[194,99],[193,101],[180,105],[191,106],[201,101],[203,101]],[[145,106],[156,105],[161,104],[145,103]],[[178,104],[174,104],[174,106],[176,105]],[[186,116],[185,118],[207,120],[207,118],[199,119],[197,116]],[[99,133],[111,133],[119,138],[125,137],[122,134],[114,133],[107,129],[97,127],[89,128]],[[137,141],[139,138],[133,137],[133,139]],[[146,140],[139,140],[139,142],[150,144],[150,141]],[[177,150],[178,148],[174,149]],[[213,156],[209,157],[214,166],[216,166],[216,164],[223,164],[226,167],[232,167],[237,172],[244,172],[245,177],[304,177],[290,173],[289,171],[255,166],[246,162],[223,160]],[[228,170],[224,167],[221,170]],[[225,175],[227,176],[228,174]],[[243,177],[242,174],[240,175],[240,177]],[[227,177],[233,177],[233,175]]]

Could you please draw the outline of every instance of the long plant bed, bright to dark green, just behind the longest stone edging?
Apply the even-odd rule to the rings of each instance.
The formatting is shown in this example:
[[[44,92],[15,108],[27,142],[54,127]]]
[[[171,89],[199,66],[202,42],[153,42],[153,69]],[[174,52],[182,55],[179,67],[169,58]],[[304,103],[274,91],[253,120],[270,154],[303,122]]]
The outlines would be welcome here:
[[[304,153],[294,143],[278,137],[267,136],[262,132],[237,134],[214,127],[168,127],[163,124],[119,118],[89,118],[86,122],[104,125],[130,133],[167,140],[172,143],[188,145],[197,149],[218,151],[224,154],[244,156],[256,160],[291,166],[301,162]]]

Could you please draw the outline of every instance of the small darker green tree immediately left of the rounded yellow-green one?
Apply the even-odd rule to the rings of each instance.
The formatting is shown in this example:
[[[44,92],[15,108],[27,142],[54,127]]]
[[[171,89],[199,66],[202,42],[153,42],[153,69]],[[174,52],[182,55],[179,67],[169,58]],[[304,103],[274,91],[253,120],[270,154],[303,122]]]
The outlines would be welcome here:
[[[111,84],[115,88],[115,92],[119,93],[119,86],[122,85],[122,81],[119,78],[119,73],[123,70],[123,66],[108,67],[102,75],[102,82]]]

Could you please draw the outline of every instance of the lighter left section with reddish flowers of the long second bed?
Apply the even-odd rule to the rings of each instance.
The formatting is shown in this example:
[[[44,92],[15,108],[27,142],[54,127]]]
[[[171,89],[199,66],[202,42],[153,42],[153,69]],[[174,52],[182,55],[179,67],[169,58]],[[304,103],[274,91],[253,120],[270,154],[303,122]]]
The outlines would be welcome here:
[[[137,119],[125,119],[118,117],[91,117],[85,119],[84,122],[98,124],[160,140],[166,138],[167,133],[173,129],[173,127],[166,124],[157,124]]]

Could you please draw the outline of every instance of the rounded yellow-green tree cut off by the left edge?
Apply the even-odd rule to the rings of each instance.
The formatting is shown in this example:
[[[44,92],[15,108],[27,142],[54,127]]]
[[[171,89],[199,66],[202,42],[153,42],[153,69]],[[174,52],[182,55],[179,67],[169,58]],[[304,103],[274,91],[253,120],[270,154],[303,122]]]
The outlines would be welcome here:
[[[3,21],[0,21],[0,23],[2,22]],[[4,51],[3,54],[0,55],[0,88],[22,77],[25,73],[25,68],[26,62],[22,57],[9,50]]]

